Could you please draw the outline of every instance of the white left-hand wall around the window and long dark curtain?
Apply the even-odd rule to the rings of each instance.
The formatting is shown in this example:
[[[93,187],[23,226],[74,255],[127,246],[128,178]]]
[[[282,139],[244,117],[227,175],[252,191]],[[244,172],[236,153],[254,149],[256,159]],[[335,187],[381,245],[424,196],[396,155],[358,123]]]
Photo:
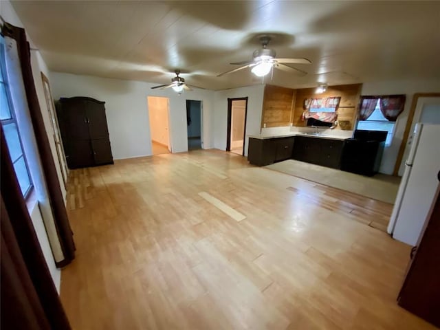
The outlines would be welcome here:
[[[14,11],[14,8],[12,8],[12,5],[10,4],[9,1],[5,1],[5,0],[0,1],[0,15],[8,23],[23,28],[23,23],[21,23],[19,17],[17,16],[16,12]],[[32,40],[30,40],[29,36],[28,36],[28,41],[32,45]],[[36,85],[36,92],[41,105],[41,113],[43,114],[43,120],[45,122],[46,131],[50,132],[51,129],[50,122],[47,119],[49,115],[47,113],[47,107],[45,105],[45,96],[43,93],[43,87],[42,85],[40,86],[38,85],[39,83],[41,84],[40,72],[44,72],[46,76],[48,74],[47,66],[45,65],[43,58],[41,58],[39,52],[35,52],[35,51],[31,52],[31,63],[32,63],[32,73],[34,75],[34,81]],[[56,154],[53,144],[51,144],[51,148],[52,148],[52,155],[54,155],[54,153]],[[54,158],[54,161],[58,162],[58,159]],[[56,166],[58,167],[57,169],[59,170],[59,165],[56,164]],[[58,178],[60,177],[61,177],[61,173],[58,173]],[[61,190],[63,192],[63,196],[65,196],[63,183],[60,182],[60,185],[61,185]],[[47,267],[50,270],[50,274],[52,275],[52,280],[54,281],[56,289],[59,292],[61,271],[58,270],[55,266],[54,258],[52,256],[52,250],[49,244],[49,239],[47,238],[43,219],[41,217],[41,212],[36,203],[34,203],[32,206],[29,206],[28,208],[30,209],[30,216],[32,219],[32,223],[34,224],[34,228],[36,230],[37,238],[39,239],[41,250],[43,250]]]

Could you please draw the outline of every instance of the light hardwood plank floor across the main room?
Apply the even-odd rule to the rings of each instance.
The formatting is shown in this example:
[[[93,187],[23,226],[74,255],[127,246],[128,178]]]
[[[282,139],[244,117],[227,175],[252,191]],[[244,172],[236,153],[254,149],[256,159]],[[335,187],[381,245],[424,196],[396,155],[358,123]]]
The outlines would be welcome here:
[[[434,329],[389,204],[211,150],[73,170],[67,206],[74,329]]]

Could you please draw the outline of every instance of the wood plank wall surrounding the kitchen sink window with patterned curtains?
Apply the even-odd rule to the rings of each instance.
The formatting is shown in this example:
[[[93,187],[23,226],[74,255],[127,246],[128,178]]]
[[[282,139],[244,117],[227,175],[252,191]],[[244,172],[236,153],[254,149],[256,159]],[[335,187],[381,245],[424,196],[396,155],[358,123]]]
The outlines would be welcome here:
[[[296,102],[294,107],[294,126],[305,126],[306,122],[301,120],[303,115],[303,103],[306,98],[327,98],[329,96],[340,96],[341,101],[338,108],[338,121],[348,120],[347,129],[353,129],[358,115],[358,106],[362,84],[329,86],[322,94],[315,94],[316,88],[296,89]],[[336,129],[341,129],[336,126]]]

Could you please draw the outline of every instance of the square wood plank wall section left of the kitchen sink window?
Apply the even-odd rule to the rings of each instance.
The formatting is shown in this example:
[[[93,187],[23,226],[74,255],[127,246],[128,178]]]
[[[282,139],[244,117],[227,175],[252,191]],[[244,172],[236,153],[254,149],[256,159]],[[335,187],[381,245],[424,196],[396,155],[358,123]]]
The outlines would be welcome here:
[[[289,126],[292,122],[295,90],[292,88],[266,85],[263,99],[261,127]]]

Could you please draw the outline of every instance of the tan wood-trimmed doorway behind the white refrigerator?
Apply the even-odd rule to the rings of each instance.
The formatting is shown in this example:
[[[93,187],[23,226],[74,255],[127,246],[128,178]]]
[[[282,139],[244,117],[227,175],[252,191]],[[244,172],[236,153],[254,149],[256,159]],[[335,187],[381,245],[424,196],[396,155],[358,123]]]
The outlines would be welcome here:
[[[440,94],[415,94],[410,114],[408,115],[408,122],[406,123],[404,139],[400,146],[399,156],[395,166],[395,174],[399,176],[404,173],[404,164],[408,158],[412,135],[417,122],[423,124],[440,124]]]

